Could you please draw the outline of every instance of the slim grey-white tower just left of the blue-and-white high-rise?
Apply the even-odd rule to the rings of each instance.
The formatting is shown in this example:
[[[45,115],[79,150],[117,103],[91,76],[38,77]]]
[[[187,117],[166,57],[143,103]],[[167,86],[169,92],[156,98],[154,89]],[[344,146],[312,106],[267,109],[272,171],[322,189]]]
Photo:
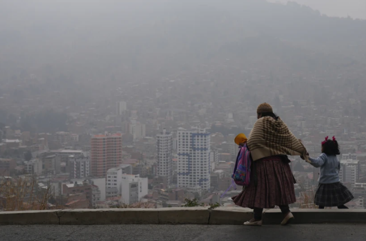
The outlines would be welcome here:
[[[157,175],[166,176],[168,185],[172,181],[172,138],[173,135],[165,129],[156,135]]]

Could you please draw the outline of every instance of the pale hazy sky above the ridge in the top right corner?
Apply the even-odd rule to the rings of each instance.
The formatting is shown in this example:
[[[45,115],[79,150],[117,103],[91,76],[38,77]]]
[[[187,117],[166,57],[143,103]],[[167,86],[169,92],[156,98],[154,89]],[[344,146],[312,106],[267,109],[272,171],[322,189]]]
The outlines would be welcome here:
[[[283,2],[289,0],[268,0],[270,2]],[[366,19],[366,0],[290,0],[308,5],[328,16],[351,16]]]

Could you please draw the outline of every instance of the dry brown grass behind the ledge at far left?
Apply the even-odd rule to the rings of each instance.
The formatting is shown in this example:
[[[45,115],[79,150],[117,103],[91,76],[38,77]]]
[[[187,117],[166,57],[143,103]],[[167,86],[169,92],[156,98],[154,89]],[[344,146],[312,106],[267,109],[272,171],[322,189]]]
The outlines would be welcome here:
[[[40,188],[34,175],[0,179],[0,208],[4,211],[58,209],[59,205],[49,205],[53,197],[50,185]]]

